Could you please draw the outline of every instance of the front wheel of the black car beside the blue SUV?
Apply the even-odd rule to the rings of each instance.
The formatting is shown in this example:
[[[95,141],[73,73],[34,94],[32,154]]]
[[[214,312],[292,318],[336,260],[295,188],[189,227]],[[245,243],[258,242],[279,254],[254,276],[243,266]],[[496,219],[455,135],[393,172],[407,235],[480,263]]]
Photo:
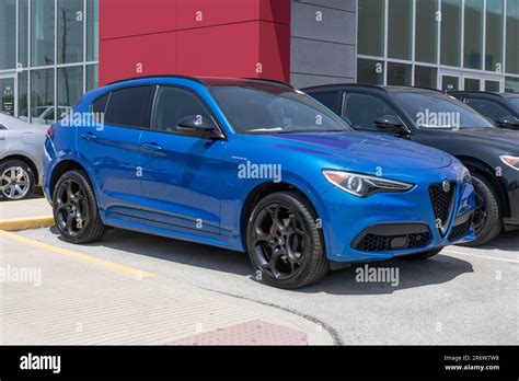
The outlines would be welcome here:
[[[476,239],[461,244],[469,247],[484,245],[495,240],[503,231],[503,212],[494,186],[478,173],[472,174],[472,183],[476,192],[476,212],[474,213]],[[478,213],[483,216],[481,220]]]

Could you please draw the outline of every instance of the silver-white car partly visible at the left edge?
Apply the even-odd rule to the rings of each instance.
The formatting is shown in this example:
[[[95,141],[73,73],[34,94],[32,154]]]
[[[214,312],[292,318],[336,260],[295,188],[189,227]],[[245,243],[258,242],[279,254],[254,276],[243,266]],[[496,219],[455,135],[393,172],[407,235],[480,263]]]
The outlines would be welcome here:
[[[47,128],[0,113],[0,200],[28,198],[42,184]]]

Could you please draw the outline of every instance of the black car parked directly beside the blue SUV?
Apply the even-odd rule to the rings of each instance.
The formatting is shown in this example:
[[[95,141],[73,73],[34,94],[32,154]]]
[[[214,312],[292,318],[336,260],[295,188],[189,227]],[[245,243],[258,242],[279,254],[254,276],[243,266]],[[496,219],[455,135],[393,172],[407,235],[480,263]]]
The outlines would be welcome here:
[[[443,92],[405,86],[333,84],[302,89],[356,129],[390,134],[457,157],[476,188],[476,246],[505,227],[519,229],[519,132],[495,127]]]

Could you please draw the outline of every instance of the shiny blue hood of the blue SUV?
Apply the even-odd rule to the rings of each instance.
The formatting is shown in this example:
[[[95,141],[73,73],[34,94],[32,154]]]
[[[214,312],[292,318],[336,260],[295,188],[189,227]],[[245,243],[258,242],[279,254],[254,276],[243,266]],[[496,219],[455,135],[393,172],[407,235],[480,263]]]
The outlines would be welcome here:
[[[448,153],[434,148],[368,132],[246,135],[244,139],[275,149],[327,157],[345,165],[361,163],[372,168],[429,170],[446,168],[453,160]]]

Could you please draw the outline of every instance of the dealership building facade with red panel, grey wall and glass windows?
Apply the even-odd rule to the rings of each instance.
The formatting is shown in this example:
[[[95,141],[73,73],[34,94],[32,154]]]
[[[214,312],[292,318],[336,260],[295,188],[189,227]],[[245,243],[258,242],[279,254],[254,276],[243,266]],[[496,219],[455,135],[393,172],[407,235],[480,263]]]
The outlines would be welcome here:
[[[519,92],[518,47],[519,0],[0,0],[0,109],[157,73]]]

